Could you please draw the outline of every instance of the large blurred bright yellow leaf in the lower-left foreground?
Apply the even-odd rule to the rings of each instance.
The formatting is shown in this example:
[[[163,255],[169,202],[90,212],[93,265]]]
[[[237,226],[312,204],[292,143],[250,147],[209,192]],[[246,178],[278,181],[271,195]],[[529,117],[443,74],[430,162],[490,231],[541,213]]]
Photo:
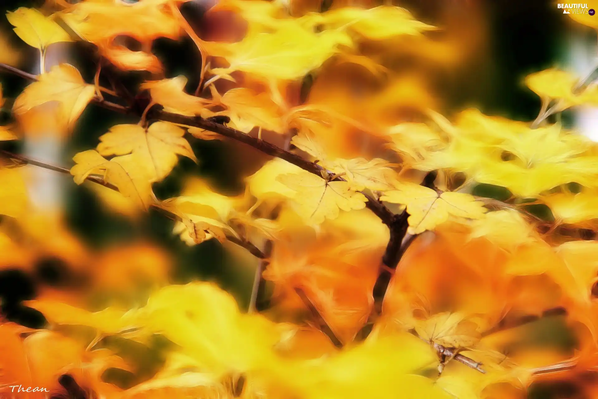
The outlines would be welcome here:
[[[185,348],[213,376],[273,364],[272,348],[280,336],[276,325],[261,315],[240,313],[233,297],[214,284],[162,288],[140,312],[149,331]]]

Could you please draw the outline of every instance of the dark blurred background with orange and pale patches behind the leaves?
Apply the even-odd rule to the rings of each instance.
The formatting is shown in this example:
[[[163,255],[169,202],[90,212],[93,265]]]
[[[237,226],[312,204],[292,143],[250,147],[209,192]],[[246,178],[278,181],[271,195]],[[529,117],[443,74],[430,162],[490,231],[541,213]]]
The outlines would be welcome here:
[[[18,7],[43,7],[43,3],[4,0],[0,14],[4,16]],[[205,19],[203,14],[210,4],[196,1],[182,6],[185,17],[205,38],[221,35],[219,22],[226,18],[220,16],[223,19],[219,20],[212,15]],[[334,1],[331,7],[341,4],[347,3]],[[384,60],[384,65],[392,66],[400,76],[396,90],[404,96],[393,112],[403,121],[415,119],[424,108],[450,117],[470,106],[487,115],[532,121],[538,115],[540,101],[523,84],[527,74],[560,66],[585,75],[596,63],[596,32],[572,22],[552,1],[395,0],[393,4],[441,28],[425,38],[402,38],[393,44],[396,52],[392,59]],[[187,89],[193,92],[199,81],[200,63],[193,42],[158,39],[152,50],[163,62],[166,78],[185,75],[189,79]],[[93,81],[93,57],[83,43],[56,44],[48,51],[48,69],[68,62],[77,66],[88,82]],[[4,17],[0,19],[0,62],[33,74],[39,72],[37,50],[20,41]],[[141,72],[124,77],[129,86],[147,79]],[[306,90],[310,79],[306,77],[303,82]],[[7,99],[16,98],[28,84],[4,73],[0,73],[0,81]],[[10,106],[8,100],[0,122],[10,120]],[[598,140],[596,113],[594,109],[566,111],[562,122]],[[95,147],[109,127],[137,121],[92,104],[68,139],[47,132],[27,136],[24,141],[0,142],[0,148],[70,167],[72,156]],[[179,194],[185,179],[193,175],[206,179],[220,193],[241,194],[246,176],[266,160],[257,151],[233,142],[194,140],[191,145],[199,165],[181,158],[170,176],[154,185],[159,198]],[[0,257],[0,297],[6,318],[30,327],[41,326],[41,314],[20,306],[20,301],[66,295],[68,290],[61,287],[86,287],[81,280],[86,275],[84,270],[92,270],[91,281],[98,285],[100,294],[92,303],[97,309],[115,297],[127,306],[135,304],[155,281],[193,279],[216,281],[236,296],[240,306],[248,303],[255,260],[242,250],[233,245],[224,248],[217,240],[187,246],[172,234],[173,221],[163,215],[149,212],[147,217],[132,216],[126,203],[111,196],[108,189],[77,186],[71,176],[30,169],[33,178],[28,190],[33,202],[48,212],[59,210],[65,218],[64,222],[32,221],[32,237],[38,237],[43,245],[24,245],[11,252],[15,255]]]

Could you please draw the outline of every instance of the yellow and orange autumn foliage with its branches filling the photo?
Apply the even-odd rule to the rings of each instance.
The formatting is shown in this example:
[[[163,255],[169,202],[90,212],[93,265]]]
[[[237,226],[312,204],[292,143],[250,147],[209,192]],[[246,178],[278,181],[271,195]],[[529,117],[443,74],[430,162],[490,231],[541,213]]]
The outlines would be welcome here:
[[[68,141],[97,106],[135,121],[70,169],[0,153],[0,270],[35,275],[59,258],[71,279],[2,303],[0,397],[502,399],[552,380],[598,395],[598,147],[549,122],[596,105],[596,84],[538,71],[522,77],[541,98],[535,121],[444,117],[389,61],[439,29],[404,8],[220,0],[208,34],[184,3],[48,0],[7,14],[42,72],[0,65],[29,80],[0,140]],[[199,86],[152,53],[158,38],[193,41]],[[52,45],[77,41],[97,55],[93,80],[44,68]],[[129,74],[143,77],[134,93],[118,83]],[[203,162],[193,141],[267,157],[239,195],[190,176],[158,198],[152,185],[183,157]],[[34,167],[70,173],[133,220],[169,218],[187,245],[221,242],[255,268],[249,309],[213,282],[173,284],[172,260],[147,243],[84,245],[29,199]],[[45,327],[11,321],[23,309]]]

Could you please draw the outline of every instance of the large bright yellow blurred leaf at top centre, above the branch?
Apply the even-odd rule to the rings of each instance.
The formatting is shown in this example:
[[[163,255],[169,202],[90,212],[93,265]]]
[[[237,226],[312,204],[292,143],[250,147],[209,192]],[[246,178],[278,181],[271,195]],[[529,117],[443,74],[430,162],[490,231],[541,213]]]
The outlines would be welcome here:
[[[273,33],[257,33],[240,42],[212,43],[210,53],[230,63],[228,68],[212,72],[222,75],[243,71],[266,80],[295,80],[340,52],[341,45],[352,45],[346,33],[314,33],[298,24],[285,24]]]

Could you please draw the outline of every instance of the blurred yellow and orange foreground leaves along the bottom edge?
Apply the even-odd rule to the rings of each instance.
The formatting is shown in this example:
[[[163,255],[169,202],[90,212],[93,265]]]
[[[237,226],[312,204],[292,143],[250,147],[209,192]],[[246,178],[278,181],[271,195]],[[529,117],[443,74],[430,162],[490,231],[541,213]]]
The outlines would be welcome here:
[[[242,397],[248,398],[257,394],[362,397],[372,393],[373,382],[376,396],[401,392],[413,398],[421,394],[450,398],[441,386],[419,374],[425,368],[434,367],[437,360],[429,346],[410,334],[377,337],[323,357],[291,355],[292,347],[301,342],[305,334],[297,325],[276,324],[261,315],[242,313],[230,294],[208,283],[163,288],[150,297],[146,306],[127,313],[110,309],[91,313],[48,301],[29,301],[28,305],[41,310],[56,327],[86,325],[105,336],[133,340],[157,333],[167,337],[177,348],[185,348],[184,352],[171,352],[164,369],[151,379],[130,389],[120,389],[103,383],[100,375],[108,367],[134,369],[111,350],[96,348],[93,343],[85,349],[84,340],[69,337],[69,330],[65,329],[35,332],[23,339],[24,334],[29,334],[25,328],[10,323],[0,325],[5,335],[3,343],[11,343],[4,359],[23,366],[29,359],[29,366],[36,366],[29,378],[35,383],[44,382],[50,389],[57,388],[55,379],[60,373],[68,372],[81,386],[93,389],[100,396],[161,397],[167,392],[194,389],[194,392],[203,392],[202,397],[232,397],[226,379],[231,374],[242,374],[245,378]],[[133,330],[135,334],[127,333]],[[54,355],[48,363],[51,358],[39,355],[52,355],[41,349],[50,340],[55,342],[53,348],[61,355]],[[319,349],[328,351],[325,345]],[[36,350],[38,356],[31,363]],[[6,366],[2,368],[8,370]],[[3,385],[19,381],[26,373],[16,367],[10,370],[11,373],[2,374]],[[397,381],[401,384],[397,385]]]

